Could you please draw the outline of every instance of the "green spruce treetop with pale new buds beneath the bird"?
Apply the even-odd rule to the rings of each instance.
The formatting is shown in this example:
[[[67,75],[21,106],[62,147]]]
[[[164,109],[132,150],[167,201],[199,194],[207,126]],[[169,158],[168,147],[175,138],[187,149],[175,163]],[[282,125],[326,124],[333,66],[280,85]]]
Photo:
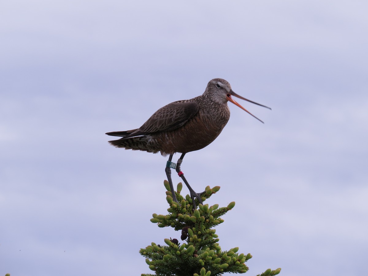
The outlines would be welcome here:
[[[174,202],[171,197],[170,186],[164,181],[166,187],[166,201],[169,204],[168,215],[153,214],[151,222],[157,223],[159,227],[173,227],[176,231],[181,231],[180,244],[176,238],[164,239],[166,245],[151,243],[146,248],[141,248],[139,253],[146,257],[149,269],[155,274],[142,274],[142,276],[218,276],[223,273],[245,273],[248,266],[245,265],[251,254],[238,254],[238,247],[227,251],[221,251],[218,244],[219,238],[212,229],[216,225],[223,223],[221,218],[235,206],[231,202],[227,207],[219,208],[218,204],[209,206],[195,202],[193,206],[190,195],[185,198],[180,195],[183,185],[177,185],[175,192],[178,202]],[[202,201],[210,198],[220,190],[219,186],[212,189],[207,186],[202,193]],[[199,205],[198,205],[199,204]],[[268,269],[257,276],[273,276],[280,273],[280,268],[276,270]]]

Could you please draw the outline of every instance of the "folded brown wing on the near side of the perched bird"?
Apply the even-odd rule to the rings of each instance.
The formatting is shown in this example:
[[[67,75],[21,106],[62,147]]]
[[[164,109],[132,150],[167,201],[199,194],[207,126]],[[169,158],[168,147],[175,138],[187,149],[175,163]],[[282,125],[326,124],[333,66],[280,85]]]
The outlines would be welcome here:
[[[161,107],[137,131],[131,135],[141,135],[159,131],[170,131],[185,124],[198,112],[196,102],[173,102]]]

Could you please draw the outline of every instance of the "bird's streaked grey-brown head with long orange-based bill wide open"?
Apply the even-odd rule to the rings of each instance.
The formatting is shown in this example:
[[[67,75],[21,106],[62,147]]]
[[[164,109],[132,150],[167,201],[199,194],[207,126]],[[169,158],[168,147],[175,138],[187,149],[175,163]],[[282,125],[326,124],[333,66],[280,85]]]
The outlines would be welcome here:
[[[255,117],[252,113],[250,113],[247,109],[245,109],[243,106],[241,106],[240,104],[238,104],[234,99],[234,97],[246,100],[248,102],[254,103],[256,105],[259,106],[263,106],[266,107],[268,109],[270,109],[270,107],[261,105],[259,103],[253,102],[251,100],[245,99],[242,96],[238,95],[237,93],[235,93],[233,91],[233,89],[231,89],[231,85],[229,84],[229,82],[225,81],[224,79],[211,79],[206,87],[205,92],[203,93],[204,96],[208,96],[210,97],[213,101],[221,103],[221,104],[226,104],[228,101],[232,102],[234,105],[237,105],[238,107],[240,107],[241,109],[245,110],[246,112],[248,112],[249,114],[251,114],[254,118],[256,118],[257,120],[259,120],[257,117]],[[261,120],[259,120],[261,121]],[[263,123],[263,121],[261,121]]]

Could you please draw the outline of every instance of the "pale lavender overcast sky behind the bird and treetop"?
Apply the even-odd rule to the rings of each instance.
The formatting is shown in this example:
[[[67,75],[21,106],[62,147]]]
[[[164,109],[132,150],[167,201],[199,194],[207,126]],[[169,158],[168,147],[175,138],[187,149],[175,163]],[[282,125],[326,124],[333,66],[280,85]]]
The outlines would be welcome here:
[[[181,165],[205,203],[236,206],[223,250],[247,275],[365,275],[367,1],[3,1],[0,275],[150,273],[173,229],[166,158],[110,146],[157,109],[224,78],[238,100]],[[179,155],[174,156],[174,161]],[[173,173],[174,185],[181,179]],[[188,190],[184,187],[184,194]]]

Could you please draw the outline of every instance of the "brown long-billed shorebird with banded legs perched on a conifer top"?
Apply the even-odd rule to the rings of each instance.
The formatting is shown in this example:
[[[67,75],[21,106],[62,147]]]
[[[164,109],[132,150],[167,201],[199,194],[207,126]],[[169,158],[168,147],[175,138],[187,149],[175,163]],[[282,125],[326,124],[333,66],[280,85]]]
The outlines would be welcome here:
[[[171,180],[171,168],[176,169],[178,175],[187,185],[193,204],[195,205],[195,198],[202,204],[202,193],[196,193],[190,187],[180,170],[180,164],[183,162],[186,153],[198,151],[208,146],[219,136],[230,118],[228,101],[255,117],[238,104],[233,96],[270,109],[236,94],[231,89],[229,82],[216,78],[208,82],[205,92],[201,96],[190,100],[178,100],[161,107],[140,128],[107,132],[107,135],[123,137],[109,141],[109,143],[117,148],[152,153],[160,152],[163,156],[169,155],[165,172],[170,184],[173,201],[177,202]],[[255,118],[259,120],[257,117]],[[261,122],[263,123],[263,121]],[[173,163],[171,160],[176,152],[181,153],[181,156],[177,163]]]

